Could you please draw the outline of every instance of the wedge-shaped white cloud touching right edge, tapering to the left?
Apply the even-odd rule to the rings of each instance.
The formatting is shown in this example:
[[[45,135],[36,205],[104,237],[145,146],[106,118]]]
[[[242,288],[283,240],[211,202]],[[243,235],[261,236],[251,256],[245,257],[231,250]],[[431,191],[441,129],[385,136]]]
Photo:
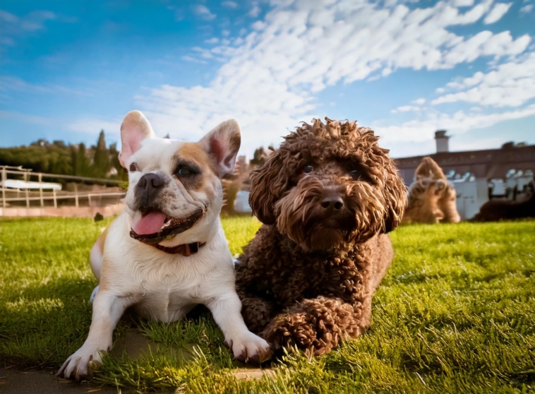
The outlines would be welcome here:
[[[440,96],[431,104],[460,101],[481,106],[519,107],[535,97],[535,53],[500,64],[488,73],[478,71],[446,87],[464,91]]]

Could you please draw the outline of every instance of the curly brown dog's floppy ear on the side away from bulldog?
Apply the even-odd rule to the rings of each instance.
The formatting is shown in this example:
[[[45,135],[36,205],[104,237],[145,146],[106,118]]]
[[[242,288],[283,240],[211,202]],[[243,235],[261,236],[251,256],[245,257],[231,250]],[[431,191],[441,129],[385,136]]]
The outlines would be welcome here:
[[[396,172],[392,163],[390,170],[387,170],[385,183],[385,227],[383,232],[391,232],[401,223],[405,208],[407,206],[407,187]]]

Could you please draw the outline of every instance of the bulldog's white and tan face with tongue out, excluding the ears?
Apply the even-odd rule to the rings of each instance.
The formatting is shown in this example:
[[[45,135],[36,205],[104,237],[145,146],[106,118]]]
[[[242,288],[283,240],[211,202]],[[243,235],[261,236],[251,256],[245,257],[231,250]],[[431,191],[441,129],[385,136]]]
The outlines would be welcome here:
[[[152,138],[143,143],[129,165],[126,203],[133,211],[132,229],[139,237],[160,242],[169,234],[162,242],[171,243],[208,234],[205,228],[221,209],[222,185],[201,143]],[[184,227],[192,218],[196,219],[191,229],[171,237],[179,234],[175,227]]]

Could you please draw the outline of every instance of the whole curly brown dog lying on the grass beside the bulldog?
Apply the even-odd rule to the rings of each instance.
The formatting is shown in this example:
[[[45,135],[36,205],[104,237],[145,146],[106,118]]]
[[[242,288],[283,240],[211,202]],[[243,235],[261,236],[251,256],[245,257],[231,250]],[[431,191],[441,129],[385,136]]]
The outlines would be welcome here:
[[[303,124],[251,174],[264,225],[236,263],[248,328],[274,350],[325,354],[370,325],[407,190],[371,129]]]

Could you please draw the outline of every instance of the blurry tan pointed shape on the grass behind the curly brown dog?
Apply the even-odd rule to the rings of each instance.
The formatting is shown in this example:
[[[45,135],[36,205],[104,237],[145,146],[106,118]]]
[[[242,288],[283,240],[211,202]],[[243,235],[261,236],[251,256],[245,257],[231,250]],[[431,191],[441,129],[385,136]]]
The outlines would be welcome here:
[[[423,157],[416,168],[408,201],[403,224],[457,223],[461,220],[455,188],[448,184],[444,172],[431,157]]]

